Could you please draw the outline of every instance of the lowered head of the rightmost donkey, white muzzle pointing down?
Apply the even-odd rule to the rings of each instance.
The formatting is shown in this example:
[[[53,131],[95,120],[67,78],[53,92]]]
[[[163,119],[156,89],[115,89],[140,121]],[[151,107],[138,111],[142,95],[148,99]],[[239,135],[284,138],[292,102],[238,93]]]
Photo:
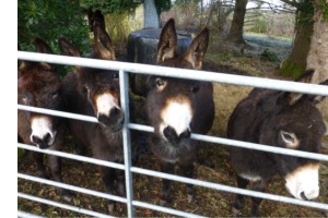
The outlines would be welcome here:
[[[309,70],[296,81],[309,83],[314,72]],[[328,85],[328,80],[320,84]],[[316,105],[323,99],[323,96],[281,92],[270,109],[276,116],[262,124],[260,143],[319,153],[326,126]],[[286,189],[294,197],[312,199],[318,196],[318,161],[281,155],[274,158],[278,171],[284,177]]]

